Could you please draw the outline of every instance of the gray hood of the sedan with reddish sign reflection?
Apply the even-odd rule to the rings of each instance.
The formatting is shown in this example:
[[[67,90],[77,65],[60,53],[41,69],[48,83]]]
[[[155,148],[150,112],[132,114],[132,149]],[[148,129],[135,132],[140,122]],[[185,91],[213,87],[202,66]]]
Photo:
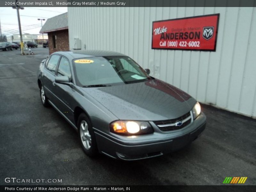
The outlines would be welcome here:
[[[82,90],[122,120],[174,119],[188,113],[196,103],[187,93],[158,79]]]

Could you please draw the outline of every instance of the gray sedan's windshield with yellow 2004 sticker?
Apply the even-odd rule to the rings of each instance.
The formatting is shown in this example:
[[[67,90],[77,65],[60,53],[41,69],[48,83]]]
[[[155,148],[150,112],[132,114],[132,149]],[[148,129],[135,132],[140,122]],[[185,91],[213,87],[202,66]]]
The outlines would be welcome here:
[[[150,76],[127,56],[89,57],[73,60],[79,86],[147,81]]]

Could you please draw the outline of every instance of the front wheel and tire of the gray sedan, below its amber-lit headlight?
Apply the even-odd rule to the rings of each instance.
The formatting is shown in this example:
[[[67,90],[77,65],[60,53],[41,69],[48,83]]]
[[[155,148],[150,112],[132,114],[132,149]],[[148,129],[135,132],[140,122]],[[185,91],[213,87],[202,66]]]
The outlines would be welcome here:
[[[90,119],[81,113],[77,121],[78,137],[80,144],[87,156],[94,157],[98,154],[97,143]]]

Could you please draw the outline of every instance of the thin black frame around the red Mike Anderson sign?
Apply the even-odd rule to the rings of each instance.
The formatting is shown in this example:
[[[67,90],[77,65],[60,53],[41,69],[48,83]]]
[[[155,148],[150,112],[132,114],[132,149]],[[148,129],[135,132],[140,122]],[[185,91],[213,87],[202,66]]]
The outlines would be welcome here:
[[[172,20],[182,20],[182,19],[193,19],[198,17],[209,17],[209,16],[217,16],[217,24],[216,24],[216,37],[214,42],[214,49],[179,49],[179,48],[153,48],[153,34],[154,34],[154,28],[153,25],[155,22],[165,22],[165,21],[172,21]],[[166,19],[166,20],[157,20],[152,22],[152,40],[151,40],[151,49],[153,50],[181,50],[181,51],[211,51],[216,52],[216,45],[217,45],[217,37],[218,37],[218,28],[219,28],[219,20],[220,20],[220,13],[214,13],[209,15],[197,15],[192,17],[181,17],[176,19]]]

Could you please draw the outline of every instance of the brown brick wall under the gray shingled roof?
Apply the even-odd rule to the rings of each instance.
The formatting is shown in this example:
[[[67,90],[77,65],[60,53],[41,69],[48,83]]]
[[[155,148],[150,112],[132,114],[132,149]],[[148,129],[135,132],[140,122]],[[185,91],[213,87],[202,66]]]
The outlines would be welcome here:
[[[53,48],[52,37],[56,36],[56,48]],[[48,33],[49,53],[57,51],[69,51],[68,29]]]

